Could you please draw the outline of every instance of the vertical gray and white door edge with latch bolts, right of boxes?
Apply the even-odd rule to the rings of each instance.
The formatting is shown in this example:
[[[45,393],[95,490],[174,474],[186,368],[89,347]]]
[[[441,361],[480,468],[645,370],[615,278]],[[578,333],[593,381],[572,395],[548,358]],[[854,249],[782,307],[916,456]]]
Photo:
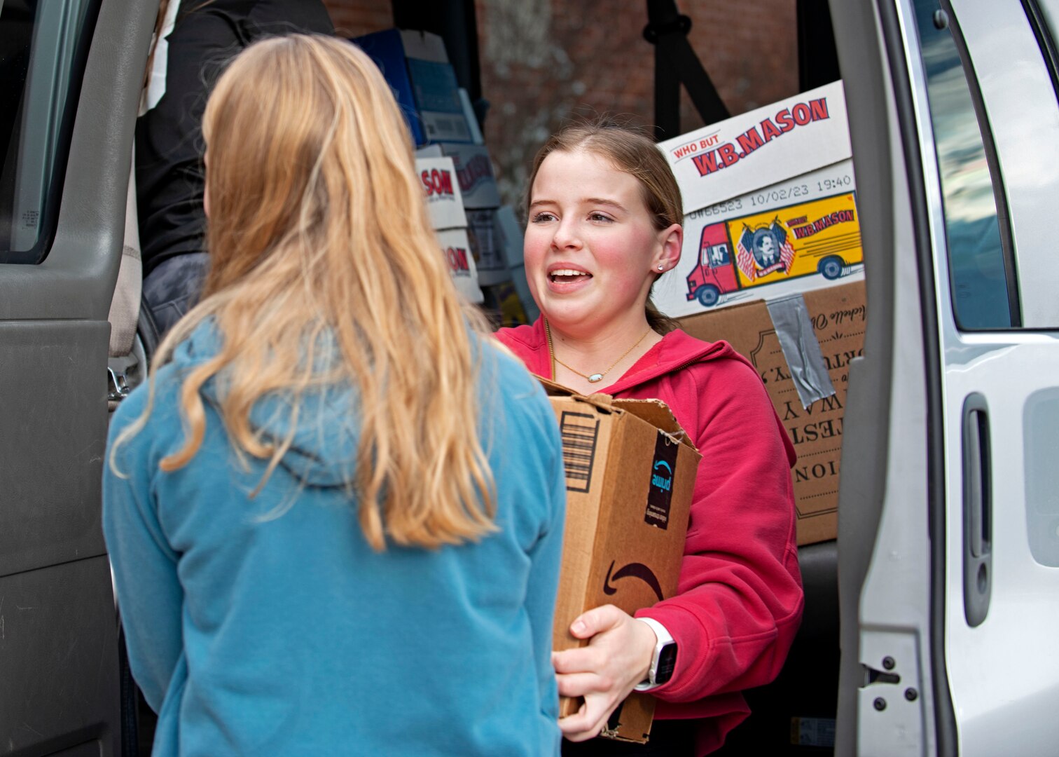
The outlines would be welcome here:
[[[842,453],[836,754],[884,749],[954,757],[945,657],[941,365],[917,128],[917,116],[926,116],[917,112],[910,75],[918,65],[910,13],[903,0],[831,0],[869,309],[864,357],[850,370]],[[881,646],[866,649],[862,627],[887,615],[893,633],[881,631]],[[887,641],[895,642],[892,651]]]

